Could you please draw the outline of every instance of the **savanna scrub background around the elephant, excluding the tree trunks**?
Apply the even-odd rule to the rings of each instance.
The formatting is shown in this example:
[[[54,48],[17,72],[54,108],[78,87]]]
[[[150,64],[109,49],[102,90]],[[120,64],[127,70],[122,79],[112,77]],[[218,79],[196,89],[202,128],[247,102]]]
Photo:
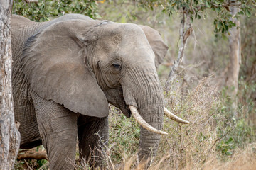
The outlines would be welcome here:
[[[13,13],[33,21],[81,13],[96,19],[151,26],[159,30],[169,46],[164,63],[158,68],[159,79],[165,86],[181,45],[182,15],[179,9],[169,13],[161,4],[151,6],[146,2],[154,4],[154,1],[127,0],[39,0],[38,3],[14,0]],[[173,6],[176,8],[176,4]],[[193,22],[189,21],[193,32],[186,42],[183,60],[176,67],[171,89],[164,94],[165,106],[190,123],[179,125],[166,119],[164,131],[169,135],[161,137],[154,162],[138,164],[139,124],[110,106],[110,141],[102,158],[107,169],[142,169],[144,166],[148,169],[256,169],[255,7],[248,8],[245,15],[238,18],[241,56],[235,111],[233,96],[230,96],[232,87],[225,83],[228,67],[232,67],[230,34],[220,28],[216,30],[216,12],[205,10],[199,13],[200,17],[193,18]],[[20,150],[15,169],[48,169],[47,159],[22,158],[26,154],[44,153],[42,146]],[[74,169],[90,167],[78,161]]]

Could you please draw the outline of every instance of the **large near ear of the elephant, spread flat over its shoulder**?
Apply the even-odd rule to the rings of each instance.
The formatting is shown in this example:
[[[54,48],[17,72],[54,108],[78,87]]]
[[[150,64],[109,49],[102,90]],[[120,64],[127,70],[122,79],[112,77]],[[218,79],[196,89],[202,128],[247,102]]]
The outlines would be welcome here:
[[[108,115],[105,94],[85,64],[99,21],[60,21],[33,35],[23,50],[22,65],[31,89],[75,113]]]

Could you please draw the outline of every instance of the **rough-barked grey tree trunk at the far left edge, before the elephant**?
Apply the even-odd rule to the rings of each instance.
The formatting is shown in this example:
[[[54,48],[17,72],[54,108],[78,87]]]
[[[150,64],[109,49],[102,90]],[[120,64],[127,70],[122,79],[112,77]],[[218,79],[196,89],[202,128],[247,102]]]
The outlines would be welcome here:
[[[11,91],[12,0],[0,0],[0,169],[13,169],[20,134],[14,120]],[[18,123],[17,123],[18,124]]]

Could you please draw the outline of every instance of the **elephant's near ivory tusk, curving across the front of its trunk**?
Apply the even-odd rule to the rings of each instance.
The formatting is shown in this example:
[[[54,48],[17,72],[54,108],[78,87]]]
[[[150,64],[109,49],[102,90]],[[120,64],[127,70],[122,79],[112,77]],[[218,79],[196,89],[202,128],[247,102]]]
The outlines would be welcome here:
[[[129,105],[129,109],[132,112],[134,119],[137,120],[139,125],[141,125],[143,128],[145,128],[146,130],[149,130],[151,132],[155,132],[157,134],[168,135],[168,133],[158,130],[158,129],[152,127],[151,125],[149,125],[149,123],[146,123],[146,121],[142,118],[142,116],[139,115],[139,111],[137,110],[136,107]]]

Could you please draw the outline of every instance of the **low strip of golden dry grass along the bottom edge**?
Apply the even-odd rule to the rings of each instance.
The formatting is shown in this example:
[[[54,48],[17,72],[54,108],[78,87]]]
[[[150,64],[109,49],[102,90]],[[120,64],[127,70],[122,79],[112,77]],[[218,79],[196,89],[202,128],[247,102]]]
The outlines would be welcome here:
[[[256,143],[247,145],[245,149],[236,149],[235,153],[232,157],[228,157],[225,161],[218,158],[217,154],[212,155],[208,158],[208,161],[205,163],[195,163],[195,162],[186,162],[186,166],[183,168],[176,168],[174,166],[170,166],[170,154],[161,157],[160,155],[156,157],[156,161],[152,164],[146,164],[146,162],[137,164],[136,155],[130,157],[129,159],[124,160],[122,164],[114,164],[110,166],[110,162],[105,162],[107,164],[105,167],[106,169],[116,169],[116,170],[139,170],[145,169],[147,166],[148,170],[155,170],[155,169],[182,169],[182,170],[191,170],[191,169],[203,169],[203,170],[254,170],[256,169]],[[77,166],[78,167],[78,166]],[[90,169],[87,165],[83,164],[79,166],[77,169]],[[100,168],[98,168],[100,169]]]

